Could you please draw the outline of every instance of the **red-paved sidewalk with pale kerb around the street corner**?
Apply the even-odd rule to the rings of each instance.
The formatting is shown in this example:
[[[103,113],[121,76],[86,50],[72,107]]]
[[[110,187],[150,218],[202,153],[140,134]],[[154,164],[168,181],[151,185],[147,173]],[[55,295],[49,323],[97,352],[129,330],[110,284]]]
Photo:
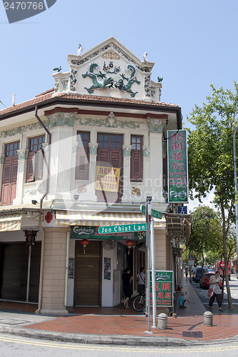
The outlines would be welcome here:
[[[229,314],[228,311],[220,313],[214,304],[213,326],[204,326],[203,314],[206,309],[189,280],[184,280],[183,291],[187,292],[185,297],[192,303],[187,303],[187,308],[175,306],[177,318],[169,316],[165,330],[152,328],[151,318],[150,330],[153,334],[144,333],[148,328],[146,316],[135,314],[132,307],[126,310],[123,306],[89,308],[87,312],[86,308],[82,308],[79,309],[79,315],[57,317],[0,310],[0,333],[77,343],[130,346],[191,346],[207,344],[207,341],[238,341],[237,314]]]

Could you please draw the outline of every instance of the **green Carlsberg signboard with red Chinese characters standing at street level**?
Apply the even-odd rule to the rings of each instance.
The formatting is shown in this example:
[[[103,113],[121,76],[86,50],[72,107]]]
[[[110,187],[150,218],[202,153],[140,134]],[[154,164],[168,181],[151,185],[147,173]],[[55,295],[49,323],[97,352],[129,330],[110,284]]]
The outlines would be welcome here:
[[[174,305],[173,271],[155,271],[157,306]],[[152,306],[152,271],[150,272],[150,305]]]

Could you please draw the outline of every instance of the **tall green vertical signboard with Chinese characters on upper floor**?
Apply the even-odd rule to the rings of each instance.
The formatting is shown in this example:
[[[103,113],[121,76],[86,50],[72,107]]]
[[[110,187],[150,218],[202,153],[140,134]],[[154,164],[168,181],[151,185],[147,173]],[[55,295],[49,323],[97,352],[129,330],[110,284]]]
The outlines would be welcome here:
[[[189,201],[187,166],[187,131],[168,130],[168,201]]]

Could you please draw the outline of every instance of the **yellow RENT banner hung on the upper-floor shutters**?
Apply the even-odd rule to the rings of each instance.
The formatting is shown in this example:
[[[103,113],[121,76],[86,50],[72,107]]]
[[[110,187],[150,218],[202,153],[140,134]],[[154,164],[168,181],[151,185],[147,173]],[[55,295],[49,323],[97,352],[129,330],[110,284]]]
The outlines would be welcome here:
[[[120,169],[118,167],[96,166],[95,190],[118,192]]]

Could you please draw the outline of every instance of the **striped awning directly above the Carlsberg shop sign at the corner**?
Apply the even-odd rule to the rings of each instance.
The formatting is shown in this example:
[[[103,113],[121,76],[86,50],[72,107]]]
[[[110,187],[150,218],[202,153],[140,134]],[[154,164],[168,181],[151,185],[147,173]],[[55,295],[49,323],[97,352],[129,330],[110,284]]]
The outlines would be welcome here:
[[[142,213],[56,211],[56,223],[59,226],[116,226],[144,222],[145,215]],[[165,228],[165,226],[164,215],[162,219],[154,218],[155,228]]]

